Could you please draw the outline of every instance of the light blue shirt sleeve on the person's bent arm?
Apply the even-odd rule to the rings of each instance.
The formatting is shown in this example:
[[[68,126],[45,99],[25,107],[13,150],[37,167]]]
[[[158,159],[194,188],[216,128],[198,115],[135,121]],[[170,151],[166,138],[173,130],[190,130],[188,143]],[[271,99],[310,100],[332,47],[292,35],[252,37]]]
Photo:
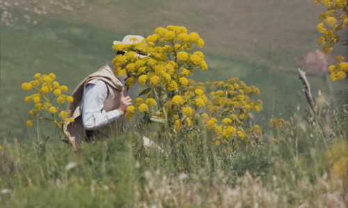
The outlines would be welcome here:
[[[98,129],[120,117],[117,110],[103,110],[104,101],[108,97],[106,83],[99,80],[96,84],[88,84],[82,106],[82,122],[87,130]]]

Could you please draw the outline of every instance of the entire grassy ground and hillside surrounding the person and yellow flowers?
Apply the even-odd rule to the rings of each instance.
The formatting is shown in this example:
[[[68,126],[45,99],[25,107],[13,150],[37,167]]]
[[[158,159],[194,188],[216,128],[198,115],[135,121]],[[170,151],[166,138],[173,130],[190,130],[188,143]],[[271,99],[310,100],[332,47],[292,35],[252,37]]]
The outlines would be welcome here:
[[[347,80],[301,65],[303,54],[320,49],[323,7],[300,0],[3,2],[0,13],[6,8],[15,22],[0,23],[0,207],[347,207]],[[35,73],[53,72],[72,93],[114,58],[113,40],[169,24],[205,41],[209,69],[192,79],[239,77],[260,88],[255,97],[264,107],[253,122],[262,145],[230,152],[203,128],[191,146],[182,138],[175,156],[146,149],[134,133],[83,144],[75,154],[53,125],[26,126],[33,106],[21,86]],[[337,46],[329,63],[336,54],[347,56],[347,47]],[[307,72],[317,117],[298,67]],[[275,128],[271,118],[290,125]]]

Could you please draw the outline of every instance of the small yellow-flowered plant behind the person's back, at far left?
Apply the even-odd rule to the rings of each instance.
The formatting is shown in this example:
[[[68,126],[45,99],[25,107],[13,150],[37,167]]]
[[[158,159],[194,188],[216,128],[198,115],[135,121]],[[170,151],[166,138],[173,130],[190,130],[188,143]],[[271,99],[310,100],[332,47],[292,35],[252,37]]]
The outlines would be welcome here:
[[[34,109],[29,111],[29,117],[33,118],[43,118],[43,112],[49,112],[52,120],[58,127],[62,127],[63,122],[73,122],[72,118],[67,118],[68,113],[66,111],[60,111],[60,107],[65,102],[73,102],[74,99],[71,96],[64,95],[62,92],[67,92],[67,86],[61,86],[58,81],[54,81],[56,75],[51,74],[40,74],[34,75],[34,80],[22,83],[23,90],[36,90],[36,93],[30,96],[26,96],[24,101],[29,103],[33,102],[35,104]],[[54,106],[53,101],[56,101],[58,106]],[[58,113],[59,112],[59,113]],[[57,118],[58,113],[58,118]],[[59,122],[60,121],[60,122]],[[33,125],[32,120],[28,120],[26,124],[31,127]]]

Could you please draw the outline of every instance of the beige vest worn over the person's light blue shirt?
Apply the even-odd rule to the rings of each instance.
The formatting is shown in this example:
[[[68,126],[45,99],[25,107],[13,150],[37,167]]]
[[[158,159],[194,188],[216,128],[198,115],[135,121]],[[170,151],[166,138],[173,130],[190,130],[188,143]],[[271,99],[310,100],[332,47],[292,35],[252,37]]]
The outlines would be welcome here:
[[[94,72],[90,74],[86,79],[81,81],[77,88],[75,88],[72,93],[72,97],[74,98],[74,102],[68,104],[68,116],[74,118],[74,122],[68,122],[64,125],[64,132],[66,136],[68,136],[68,140],[74,147],[79,145],[79,143],[86,141],[86,129],[84,129],[84,125],[82,123],[82,104],[83,97],[86,90],[86,86],[89,83],[97,83],[98,80],[102,80],[106,83],[108,89],[108,97],[104,101],[104,110],[106,112],[113,111],[118,109],[120,106],[120,93],[123,90],[123,94],[127,96],[127,88],[125,88],[122,82],[115,77],[113,74],[113,65],[104,65]],[[124,117],[118,118],[115,122],[109,123],[97,131],[99,131],[99,135],[103,136],[111,136],[116,135],[122,131],[122,126],[124,124]],[[65,141],[66,138],[65,138]],[[69,142],[67,141],[67,142]]]

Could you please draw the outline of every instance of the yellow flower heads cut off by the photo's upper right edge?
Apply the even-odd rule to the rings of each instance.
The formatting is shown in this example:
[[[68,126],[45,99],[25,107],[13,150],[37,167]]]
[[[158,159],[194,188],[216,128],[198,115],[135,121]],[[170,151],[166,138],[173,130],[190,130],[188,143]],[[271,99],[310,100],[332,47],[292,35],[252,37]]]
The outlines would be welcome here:
[[[327,12],[319,15],[321,23],[318,24],[317,30],[322,33],[322,37],[318,39],[319,45],[322,45],[323,51],[330,54],[333,47],[338,42],[348,45],[348,40],[340,40],[338,34],[344,28],[348,27],[348,1],[347,0],[314,0],[315,4],[322,3]],[[348,71],[348,63],[344,61],[345,57],[337,56],[335,65],[329,67],[330,79],[336,81],[345,79]]]

